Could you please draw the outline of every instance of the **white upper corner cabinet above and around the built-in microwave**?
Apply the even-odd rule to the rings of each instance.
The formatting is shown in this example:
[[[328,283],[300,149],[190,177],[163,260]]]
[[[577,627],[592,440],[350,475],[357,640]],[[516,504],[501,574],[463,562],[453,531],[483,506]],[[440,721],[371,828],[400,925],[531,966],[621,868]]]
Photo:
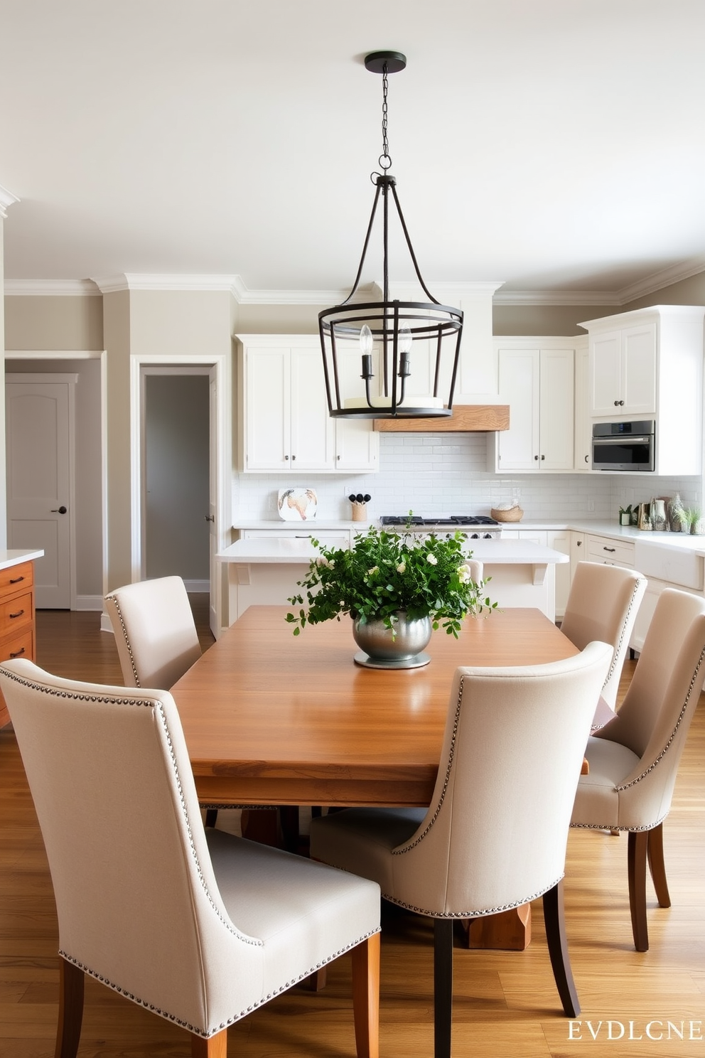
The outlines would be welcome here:
[[[700,474],[703,306],[657,305],[580,324],[592,419],[654,419],[654,473]]]

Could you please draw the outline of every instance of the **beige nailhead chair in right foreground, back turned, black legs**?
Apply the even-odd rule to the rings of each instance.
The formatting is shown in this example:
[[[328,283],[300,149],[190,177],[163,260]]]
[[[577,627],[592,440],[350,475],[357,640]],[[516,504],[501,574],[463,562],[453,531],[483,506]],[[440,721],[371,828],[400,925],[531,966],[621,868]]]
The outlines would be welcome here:
[[[567,661],[459,669],[433,798],[349,808],[311,823],[311,855],[374,879],[434,922],[435,1058],[450,1054],[452,920],[543,897],[563,1009],[579,1005],[563,928],[565,843],[595,699],[612,647]]]

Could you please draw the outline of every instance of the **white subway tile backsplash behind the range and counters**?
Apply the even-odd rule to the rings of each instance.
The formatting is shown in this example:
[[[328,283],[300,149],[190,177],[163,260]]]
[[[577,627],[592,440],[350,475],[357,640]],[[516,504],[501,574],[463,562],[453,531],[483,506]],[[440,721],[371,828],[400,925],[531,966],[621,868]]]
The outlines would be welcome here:
[[[370,518],[379,514],[425,516],[488,514],[518,498],[531,521],[615,521],[619,507],[672,496],[702,506],[702,478],[641,474],[517,474],[486,470],[486,434],[381,434],[377,474],[238,474],[233,482],[234,521],[277,518],[277,492],[292,486],[316,490],[319,518],[350,518],[351,492],[370,493]]]

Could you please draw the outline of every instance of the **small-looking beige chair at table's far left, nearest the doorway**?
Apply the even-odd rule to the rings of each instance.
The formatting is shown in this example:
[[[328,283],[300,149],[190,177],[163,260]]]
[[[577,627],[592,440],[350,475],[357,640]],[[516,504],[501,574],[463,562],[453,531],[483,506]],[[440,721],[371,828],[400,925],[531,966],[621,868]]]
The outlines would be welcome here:
[[[160,577],[106,596],[126,687],[168,691],[201,657],[181,577]]]

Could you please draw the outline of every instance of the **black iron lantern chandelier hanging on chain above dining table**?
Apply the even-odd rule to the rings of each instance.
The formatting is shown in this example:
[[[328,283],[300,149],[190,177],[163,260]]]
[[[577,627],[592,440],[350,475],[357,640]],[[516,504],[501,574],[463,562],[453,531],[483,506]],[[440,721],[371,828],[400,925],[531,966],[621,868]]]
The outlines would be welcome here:
[[[373,172],[376,190],[353,288],[340,305],[318,313],[329,412],[334,417],[411,419],[447,417],[458,373],[463,313],[441,305],[424,282],[411,245],[387,140],[387,75],[406,67],[400,52],[373,52],[365,59],[382,74],[382,172]],[[383,300],[353,303],[382,196]],[[390,300],[389,204],[393,202],[416,278],[428,302]]]

